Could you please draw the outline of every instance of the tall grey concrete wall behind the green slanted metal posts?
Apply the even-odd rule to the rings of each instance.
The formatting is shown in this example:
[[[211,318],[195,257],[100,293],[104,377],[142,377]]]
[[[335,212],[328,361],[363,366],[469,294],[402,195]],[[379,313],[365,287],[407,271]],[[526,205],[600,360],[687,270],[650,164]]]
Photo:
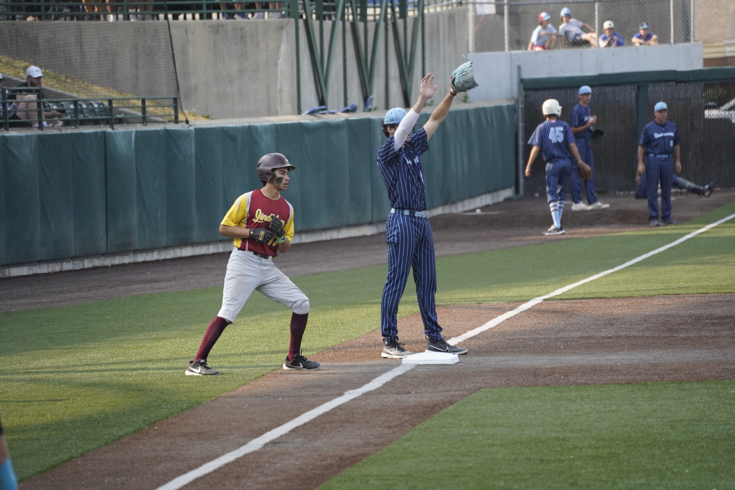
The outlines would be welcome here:
[[[409,19],[409,26],[414,20]],[[294,24],[293,19],[173,21],[171,33],[184,108],[212,118],[295,114]],[[140,96],[175,93],[176,80],[165,22],[3,22],[2,26],[0,55],[125,93]],[[330,28],[331,22],[325,22],[325,45],[329,43]],[[369,24],[369,29],[372,33],[374,24]],[[330,109],[340,109],[344,103],[342,33],[341,29],[339,31],[331,72]],[[303,22],[299,33],[301,108],[306,110],[318,104]],[[386,98],[385,35],[381,32],[373,87],[373,107],[380,109],[404,105],[392,33],[388,43]],[[462,64],[462,55],[466,53],[466,8],[426,15],[426,70],[437,73],[442,91],[448,90],[449,73]],[[414,85],[421,78],[420,71],[419,49]],[[362,109],[349,29],[346,84],[347,103],[358,104]]]

